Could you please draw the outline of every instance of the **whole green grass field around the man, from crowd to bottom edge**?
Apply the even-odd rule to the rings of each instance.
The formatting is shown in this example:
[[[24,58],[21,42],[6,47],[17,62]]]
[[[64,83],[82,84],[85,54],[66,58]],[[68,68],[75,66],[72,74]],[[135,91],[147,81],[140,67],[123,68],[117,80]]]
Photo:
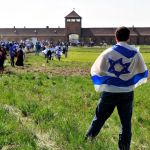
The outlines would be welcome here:
[[[119,118],[115,110],[94,143],[84,136],[99,93],[90,68],[100,48],[71,48],[68,58],[26,55],[25,66],[0,75],[0,149],[116,150]],[[150,69],[150,49],[141,47]],[[131,150],[150,150],[150,82],[135,90]]]

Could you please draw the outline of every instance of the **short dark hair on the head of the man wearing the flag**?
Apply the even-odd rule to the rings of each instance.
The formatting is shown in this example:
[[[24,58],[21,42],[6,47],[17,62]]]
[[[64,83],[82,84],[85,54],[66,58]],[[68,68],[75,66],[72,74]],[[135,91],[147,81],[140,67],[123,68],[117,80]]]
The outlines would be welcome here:
[[[116,29],[115,36],[118,41],[127,41],[130,37],[130,30],[127,27],[119,27]]]

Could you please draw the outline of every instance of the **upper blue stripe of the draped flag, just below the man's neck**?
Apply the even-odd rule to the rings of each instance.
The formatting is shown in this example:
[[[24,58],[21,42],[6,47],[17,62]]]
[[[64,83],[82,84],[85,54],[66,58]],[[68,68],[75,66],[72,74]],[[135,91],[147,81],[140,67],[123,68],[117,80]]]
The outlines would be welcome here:
[[[118,53],[122,54],[123,56],[125,56],[127,58],[132,58],[137,53],[134,50],[127,49],[127,48],[125,48],[123,46],[120,46],[120,45],[114,45],[112,47],[112,49],[115,50],[115,51],[117,51]]]

